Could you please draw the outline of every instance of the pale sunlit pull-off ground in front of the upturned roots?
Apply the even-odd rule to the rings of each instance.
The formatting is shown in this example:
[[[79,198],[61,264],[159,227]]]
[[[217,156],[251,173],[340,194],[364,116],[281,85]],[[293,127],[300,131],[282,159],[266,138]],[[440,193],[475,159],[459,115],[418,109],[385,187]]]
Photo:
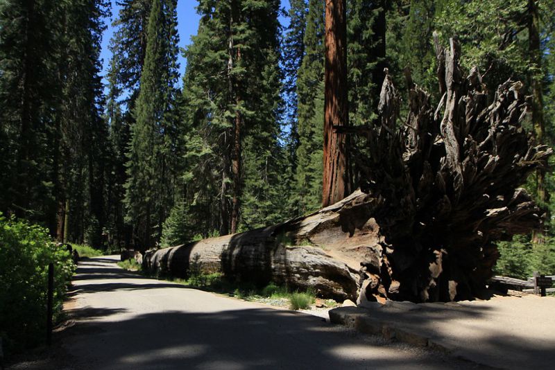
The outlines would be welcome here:
[[[555,298],[527,295],[451,303],[388,301],[336,308],[332,321],[403,337],[502,369],[554,369]],[[400,334],[400,335],[399,335]]]

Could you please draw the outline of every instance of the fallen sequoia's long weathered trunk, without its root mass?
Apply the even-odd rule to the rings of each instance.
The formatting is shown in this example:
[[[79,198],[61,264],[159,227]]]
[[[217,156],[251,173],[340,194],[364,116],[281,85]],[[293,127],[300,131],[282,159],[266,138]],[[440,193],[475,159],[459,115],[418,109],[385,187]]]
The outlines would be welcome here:
[[[368,214],[373,202],[357,191],[303,218],[146,252],[143,268],[151,274],[186,277],[198,256],[204,272],[222,272],[228,279],[260,286],[275,281],[312,288],[321,297],[354,300],[361,285],[359,261],[372,261],[379,248],[377,225]]]

